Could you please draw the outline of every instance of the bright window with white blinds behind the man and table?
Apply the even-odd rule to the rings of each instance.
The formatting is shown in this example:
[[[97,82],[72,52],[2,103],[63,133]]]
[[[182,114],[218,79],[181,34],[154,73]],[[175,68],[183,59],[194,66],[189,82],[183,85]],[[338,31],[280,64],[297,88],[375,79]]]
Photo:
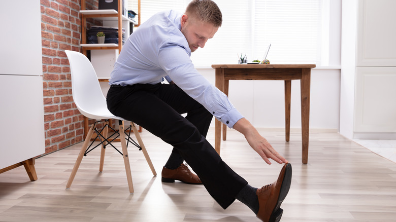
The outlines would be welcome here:
[[[128,9],[137,9],[129,0]],[[184,12],[190,0],[141,0],[141,22],[156,12]],[[238,55],[262,60],[269,44],[271,63],[320,64],[322,0],[215,0],[223,24],[204,49],[191,54],[195,66],[236,64]],[[134,10],[135,11],[135,10]]]

